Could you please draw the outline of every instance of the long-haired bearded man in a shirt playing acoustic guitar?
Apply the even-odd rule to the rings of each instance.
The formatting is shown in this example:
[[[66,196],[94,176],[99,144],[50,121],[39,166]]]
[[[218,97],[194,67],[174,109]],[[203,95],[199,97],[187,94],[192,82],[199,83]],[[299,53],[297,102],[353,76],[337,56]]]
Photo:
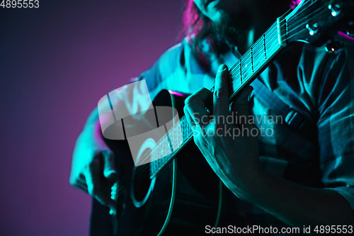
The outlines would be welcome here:
[[[299,2],[188,1],[183,15],[185,40],[138,77],[146,79],[152,99],[161,89],[192,94],[185,100],[184,113],[195,144],[234,194],[232,207],[239,215],[234,224],[300,229],[311,225],[311,230],[320,225],[354,225],[353,43],[344,43],[336,54],[324,47],[294,44],[258,77],[304,116],[301,128],[291,127],[285,118],[275,123],[272,117],[278,114],[252,96],[251,86],[241,89],[231,106],[236,119],[246,119],[200,124],[202,116],[229,116],[229,69],[236,62],[230,58],[245,55],[278,16]],[[213,84],[213,92],[203,88]],[[265,120],[254,121],[261,116]],[[259,129],[262,124],[273,135],[196,135],[218,128],[219,133],[229,128]],[[109,191],[117,178],[114,158],[120,157],[103,141],[98,113],[93,111],[76,141],[70,184],[116,208]]]

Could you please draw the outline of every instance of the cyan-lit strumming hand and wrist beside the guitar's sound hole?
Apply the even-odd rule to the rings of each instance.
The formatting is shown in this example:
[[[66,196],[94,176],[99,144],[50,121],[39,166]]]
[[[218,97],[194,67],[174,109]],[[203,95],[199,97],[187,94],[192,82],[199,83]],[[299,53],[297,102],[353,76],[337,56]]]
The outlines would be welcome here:
[[[115,209],[115,201],[110,198],[110,187],[117,178],[113,152],[99,132],[99,123],[93,123],[76,140],[69,182],[101,204]]]

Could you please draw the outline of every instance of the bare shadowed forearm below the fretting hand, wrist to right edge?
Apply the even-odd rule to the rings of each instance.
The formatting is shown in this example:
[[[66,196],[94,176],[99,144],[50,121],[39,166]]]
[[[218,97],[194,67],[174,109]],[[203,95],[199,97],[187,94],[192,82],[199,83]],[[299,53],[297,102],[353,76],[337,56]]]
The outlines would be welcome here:
[[[256,186],[244,200],[293,227],[354,225],[348,201],[331,189],[308,188],[268,174]]]

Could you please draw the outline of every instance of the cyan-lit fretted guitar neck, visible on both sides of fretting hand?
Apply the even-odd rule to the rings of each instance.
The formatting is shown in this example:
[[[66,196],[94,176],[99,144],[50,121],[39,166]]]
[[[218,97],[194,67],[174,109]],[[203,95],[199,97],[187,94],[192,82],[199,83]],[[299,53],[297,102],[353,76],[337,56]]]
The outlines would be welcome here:
[[[273,23],[270,28],[254,43],[251,48],[229,69],[231,96],[229,101],[232,101],[234,96],[246,85],[253,82],[263,70],[272,62],[275,55],[285,48],[287,38],[287,22],[284,17],[280,17]],[[210,89],[214,92],[215,86]],[[176,154],[192,139],[193,131],[188,125],[185,116],[176,122],[173,127],[168,130],[169,145],[166,141],[158,142],[152,153],[165,152],[169,149],[169,154],[163,158],[156,158],[152,154],[152,168],[150,169],[150,179],[163,169],[166,164],[176,156]],[[166,138],[164,138],[166,140]],[[171,151],[170,151],[171,149]],[[165,151],[164,151],[165,150]]]

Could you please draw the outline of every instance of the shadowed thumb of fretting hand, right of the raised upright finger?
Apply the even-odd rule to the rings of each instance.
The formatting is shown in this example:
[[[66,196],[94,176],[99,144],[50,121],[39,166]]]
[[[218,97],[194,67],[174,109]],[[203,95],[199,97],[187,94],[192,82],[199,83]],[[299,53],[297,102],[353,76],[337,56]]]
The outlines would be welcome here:
[[[237,94],[236,99],[234,99],[232,111],[236,114],[236,123],[244,124],[249,118],[249,95],[252,91],[252,86],[245,87]]]

